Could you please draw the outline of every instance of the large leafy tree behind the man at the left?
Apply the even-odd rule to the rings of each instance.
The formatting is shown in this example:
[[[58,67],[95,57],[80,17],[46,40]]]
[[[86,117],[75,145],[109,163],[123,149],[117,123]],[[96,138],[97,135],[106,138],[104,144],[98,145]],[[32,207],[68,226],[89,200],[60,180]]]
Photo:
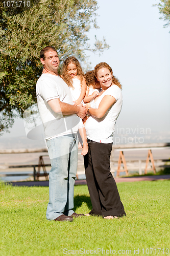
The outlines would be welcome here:
[[[23,3],[30,3],[24,6]],[[5,2],[7,3],[7,1]],[[105,39],[88,44],[96,25],[95,0],[30,0],[0,4],[0,131],[36,102],[35,84],[42,73],[39,52],[55,46],[61,62],[69,55],[86,60],[86,50],[103,51]],[[10,6],[9,6],[10,3]],[[19,3],[19,2],[18,2]]]

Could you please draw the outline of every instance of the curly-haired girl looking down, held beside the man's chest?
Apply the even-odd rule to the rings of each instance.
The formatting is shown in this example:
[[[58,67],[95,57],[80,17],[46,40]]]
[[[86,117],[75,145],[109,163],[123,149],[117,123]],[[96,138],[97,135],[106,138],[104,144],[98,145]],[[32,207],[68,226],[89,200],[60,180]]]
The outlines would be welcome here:
[[[86,81],[84,79],[84,73],[76,57],[71,56],[65,59],[63,63],[61,77],[67,83],[71,91],[72,100],[74,104],[79,105],[81,103],[84,103],[83,99],[86,94],[87,86],[86,86]],[[87,144],[85,128],[84,127],[80,128],[79,133],[83,141],[83,150],[81,155],[86,155],[88,152],[88,144]],[[79,148],[82,148],[80,142],[79,142]]]

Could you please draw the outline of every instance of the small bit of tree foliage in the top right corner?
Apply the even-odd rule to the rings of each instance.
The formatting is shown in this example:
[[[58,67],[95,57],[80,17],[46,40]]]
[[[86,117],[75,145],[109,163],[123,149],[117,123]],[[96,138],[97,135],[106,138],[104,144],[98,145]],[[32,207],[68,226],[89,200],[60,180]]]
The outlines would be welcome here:
[[[160,0],[160,1],[161,3],[157,4],[156,6],[158,6],[159,12],[162,14],[160,19],[167,21],[167,23],[164,25],[164,27],[167,27],[170,25],[170,0]]]

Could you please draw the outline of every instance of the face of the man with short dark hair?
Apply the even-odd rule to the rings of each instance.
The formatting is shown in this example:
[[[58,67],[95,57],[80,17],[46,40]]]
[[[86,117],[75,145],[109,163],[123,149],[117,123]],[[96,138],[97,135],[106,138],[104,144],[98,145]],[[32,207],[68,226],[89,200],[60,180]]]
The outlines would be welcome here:
[[[44,53],[44,59],[41,58],[41,63],[44,68],[52,73],[57,73],[60,60],[56,51],[50,50]]]

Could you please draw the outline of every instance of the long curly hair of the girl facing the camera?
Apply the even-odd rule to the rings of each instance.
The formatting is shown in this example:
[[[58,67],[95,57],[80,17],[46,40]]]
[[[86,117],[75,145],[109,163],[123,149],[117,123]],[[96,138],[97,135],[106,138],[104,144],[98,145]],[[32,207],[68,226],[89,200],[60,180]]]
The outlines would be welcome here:
[[[63,67],[62,67],[63,80],[67,83],[68,87],[71,87],[74,89],[74,86],[72,85],[72,78],[70,75],[68,75],[68,72],[67,72],[67,66],[70,63],[75,64],[77,67],[77,75],[80,77],[80,86],[82,86],[82,83],[83,83],[84,73],[80,66],[79,60],[76,57],[71,56],[64,60]]]

